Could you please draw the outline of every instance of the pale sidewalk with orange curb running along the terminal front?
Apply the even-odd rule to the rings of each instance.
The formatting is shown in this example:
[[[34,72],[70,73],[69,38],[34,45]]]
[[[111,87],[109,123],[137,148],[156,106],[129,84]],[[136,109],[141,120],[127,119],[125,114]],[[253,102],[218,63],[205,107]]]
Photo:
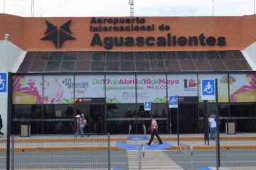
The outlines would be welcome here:
[[[125,142],[127,145],[146,144],[147,140],[129,140],[129,135],[110,135],[110,149],[124,150],[117,147],[117,142]],[[142,137],[144,135],[131,135],[131,137]],[[150,138],[150,135],[146,135]],[[160,135],[164,142],[172,147],[166,150],[177,150],[177,135]],[[32,135],[31,137],[14,137],[14,148],[16,151],[76,151],[76,150],[106,150],[107,135],[90,135],[75,138],[73,135]],[[156,137],[154,142],[158,142]],[[209,145],[203,138],[203,134],[182,134],[180,143],[192,145],[193,149],[215,149],[215,141],[210,140]],[[256,133],[226,135],[220,134],[220,149],[256,149]],[[6,137],[0,138],[0,151],[6,150]]]

